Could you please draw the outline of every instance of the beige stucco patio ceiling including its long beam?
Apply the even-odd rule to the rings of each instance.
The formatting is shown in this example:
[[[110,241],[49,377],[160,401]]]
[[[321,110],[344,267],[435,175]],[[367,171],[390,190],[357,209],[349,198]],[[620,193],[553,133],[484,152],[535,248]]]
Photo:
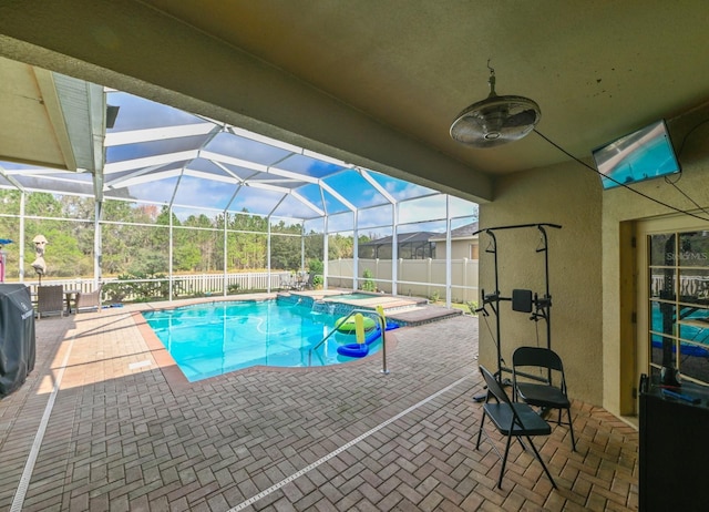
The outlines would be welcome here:
[[[709,96],[700,0],[4,2],[0,54],[224,119],[464,197],[569,157],[538,134],[449,135],[489,93],[533,99],[571,154]]]

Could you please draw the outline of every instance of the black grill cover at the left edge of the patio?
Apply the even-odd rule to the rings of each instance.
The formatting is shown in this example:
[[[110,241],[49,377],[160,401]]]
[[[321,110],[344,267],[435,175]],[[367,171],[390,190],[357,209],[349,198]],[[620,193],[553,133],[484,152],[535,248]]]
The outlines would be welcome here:
[[[0,284],[0,396],[10,395],[34,369],[34,308],[24,285]]]

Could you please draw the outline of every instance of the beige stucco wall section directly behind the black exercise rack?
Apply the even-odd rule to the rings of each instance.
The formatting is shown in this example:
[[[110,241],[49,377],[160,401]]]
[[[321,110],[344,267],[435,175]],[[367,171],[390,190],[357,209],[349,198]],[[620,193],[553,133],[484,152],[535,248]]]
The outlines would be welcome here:
[[[569,393],[589,403],[603,401],[602,257],[598,177],[578,163],[534,170],[495,182],[495,201],[480,207],[482,228],[552,223],[548,237],[549,295],[552,296],[552,348],[562,359]],[[537,253],[541,233],[536,228],[495,232],[499,284],[502,297],[514,288],[545,293],[544,253]],[[494,291],[493,255],[486,253],[490,237],[480,234],[480,287]],[[490,309],[490,307],[489,307]],[[512,311],[511,303],[500,307],[501,350],[506,366],[522,345],[546,346],[546,324]],[[496,369],[496,349],[490,330],[495,317],[481,317],[480,361]],[[484,322],[490,324],[489,330]]]

